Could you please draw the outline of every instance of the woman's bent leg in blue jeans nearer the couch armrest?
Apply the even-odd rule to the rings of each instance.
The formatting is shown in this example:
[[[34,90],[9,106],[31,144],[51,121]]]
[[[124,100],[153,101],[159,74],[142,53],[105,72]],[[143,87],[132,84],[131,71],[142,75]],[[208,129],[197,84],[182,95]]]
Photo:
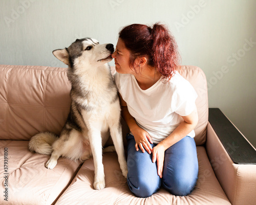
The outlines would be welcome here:
[[[169,148],[164,165],[162,185],[165,189],[177,196],[185,196],[193,191],[199,169],[194,139],[186,137]]]

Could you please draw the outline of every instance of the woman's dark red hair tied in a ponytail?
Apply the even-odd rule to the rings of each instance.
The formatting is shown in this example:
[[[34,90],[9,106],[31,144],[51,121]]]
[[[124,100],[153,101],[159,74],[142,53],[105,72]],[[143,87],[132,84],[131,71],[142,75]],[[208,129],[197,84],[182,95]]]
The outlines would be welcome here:
[[[148,65],[155,67],[168,79],[178,68],[180,55],[177,43],[165,25],[156,23],[151,28],[142,24],[132,24],[119,32],[119,38],[131,52],[130,66],[134,67],[137,57],[144,56]]]

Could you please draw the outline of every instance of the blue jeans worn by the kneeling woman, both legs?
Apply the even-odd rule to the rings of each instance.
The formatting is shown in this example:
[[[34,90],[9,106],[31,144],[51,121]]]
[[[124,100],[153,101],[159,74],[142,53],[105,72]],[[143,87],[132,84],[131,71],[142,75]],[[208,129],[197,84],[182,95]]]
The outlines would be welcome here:
[[[134,136],[127,134],[127,183],[138,197],[148,197],[161,185],[171,194],[185,196],[196,186],[198,179],[197,148],[193,138],[185,136],[165,151],[163,175],[157,174],[152,154],[136,151]],[[157,144],[151,144],[152,148]]]

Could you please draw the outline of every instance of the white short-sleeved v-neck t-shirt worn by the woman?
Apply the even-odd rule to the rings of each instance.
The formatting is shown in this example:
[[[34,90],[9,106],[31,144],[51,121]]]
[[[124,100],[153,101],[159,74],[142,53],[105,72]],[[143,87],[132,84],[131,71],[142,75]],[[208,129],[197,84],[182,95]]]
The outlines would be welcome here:
[[[196,107],[194,87],[177,71],[170,80],[163,76],[150,88],[142,90],[134,75],[115,74],[119,93],[137,124],[146,130],[153,143],[164,140]],[[194,138],[195,131],[188,136]]]

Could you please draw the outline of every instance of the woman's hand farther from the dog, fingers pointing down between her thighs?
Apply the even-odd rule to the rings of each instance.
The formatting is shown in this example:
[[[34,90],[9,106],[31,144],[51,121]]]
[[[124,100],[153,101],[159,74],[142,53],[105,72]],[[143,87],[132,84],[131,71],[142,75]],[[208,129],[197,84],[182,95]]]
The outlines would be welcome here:
[[[157,161],[157,174],[160,178],[163,176],[164,152],[165,149],[161,144],[158,144],[152,150],[152,162],[155,163]]]

